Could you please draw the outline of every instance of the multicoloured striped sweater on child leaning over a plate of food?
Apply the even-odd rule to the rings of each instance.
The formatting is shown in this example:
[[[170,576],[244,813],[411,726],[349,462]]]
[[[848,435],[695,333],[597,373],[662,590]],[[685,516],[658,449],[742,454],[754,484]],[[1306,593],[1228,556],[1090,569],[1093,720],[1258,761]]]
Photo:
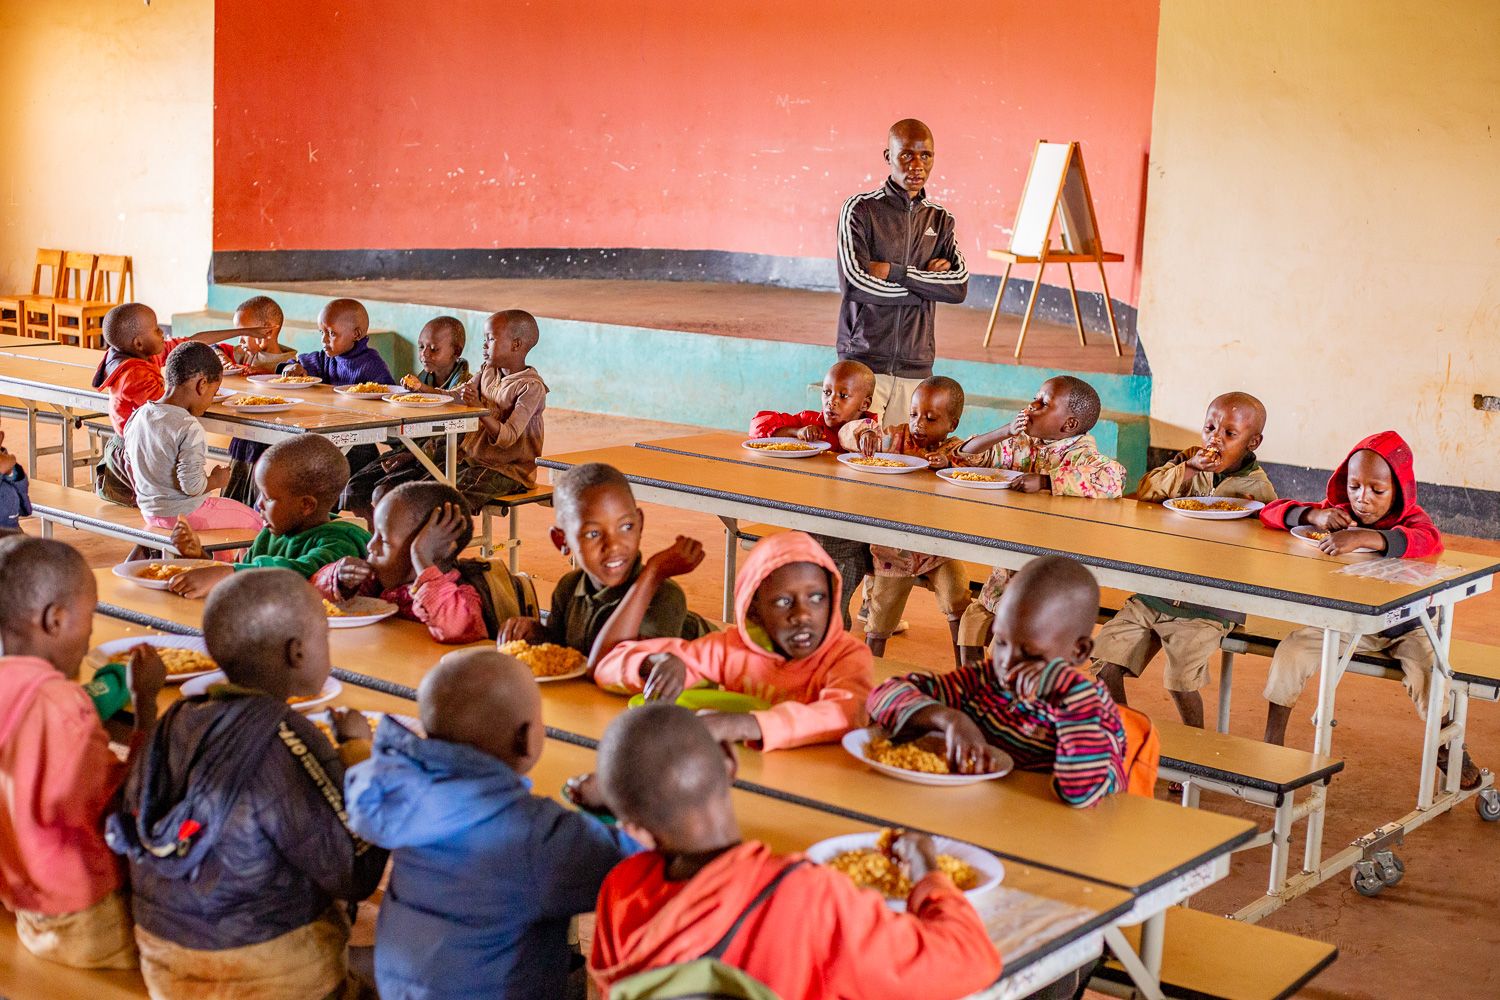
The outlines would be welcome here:
[[[870,693],[870,718],[902,732],[930,705],[954,708],[1023,771],[1052,771],[1058,798],[1094,805],[1125,790],[1125,727],[1104,685],[1054,660],[1028,672],[1023,687],[1000,685],[988,666],[950,673],[908,673]]]

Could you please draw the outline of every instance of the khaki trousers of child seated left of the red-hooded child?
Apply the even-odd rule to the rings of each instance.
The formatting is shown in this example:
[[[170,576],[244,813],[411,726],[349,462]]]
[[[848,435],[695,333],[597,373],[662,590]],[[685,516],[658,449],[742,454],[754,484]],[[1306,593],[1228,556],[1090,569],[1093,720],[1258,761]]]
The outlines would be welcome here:
[[[1138,678],[1158,651],[1167,654],[1161,684],[1168,691],[1202,691],[1209,682],[1209,658],[1233,628],[1209,618],[1162,615],[1138,597],[1104,624],[1094,639],[1094,661],[1113,663]]]

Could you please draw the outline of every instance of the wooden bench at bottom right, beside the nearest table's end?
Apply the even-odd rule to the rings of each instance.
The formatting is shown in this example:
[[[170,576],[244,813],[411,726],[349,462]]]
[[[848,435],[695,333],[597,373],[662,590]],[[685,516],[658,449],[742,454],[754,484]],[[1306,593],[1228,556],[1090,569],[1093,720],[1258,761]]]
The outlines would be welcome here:
[[[1122,937],[1132,946],[1140,943],[1138,928]],[[1161,988],[1168,997],[1281,1000],[1296,996],[1338,958],[1338,948],[1324,942],[1182,907],[1167,910],[1162,937]],[[1131,981],[1119,960],[1110,958],[1090,985],[1116,993],[1114,987],[1128,991]]]

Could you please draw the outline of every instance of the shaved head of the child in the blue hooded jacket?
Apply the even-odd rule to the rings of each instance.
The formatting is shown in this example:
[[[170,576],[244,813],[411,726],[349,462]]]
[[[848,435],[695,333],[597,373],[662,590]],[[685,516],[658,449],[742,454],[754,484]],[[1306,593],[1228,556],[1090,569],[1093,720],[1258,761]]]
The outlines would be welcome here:
[[[525,774],[542,754],[542,693],[531,669],[494,648],[438,660],[417,688],[422,727],[434,739],[483,750]]]

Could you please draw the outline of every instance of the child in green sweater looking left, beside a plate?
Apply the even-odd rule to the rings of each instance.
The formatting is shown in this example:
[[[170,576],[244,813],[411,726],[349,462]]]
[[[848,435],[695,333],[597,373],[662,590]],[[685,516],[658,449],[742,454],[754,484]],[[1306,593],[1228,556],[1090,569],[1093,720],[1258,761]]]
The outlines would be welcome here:
[[[178,573],[166,589],[200,598],[237,570],[291,570],[310,579],[330,562],[363,556],[369,532],[328,516],[348,481],[350,463],[327,438],[309,433],[278,441],[255,463],[255,492],[266,528],[255,535],[250,550],[232,565]],[[172,531],[172,544],[184,559],[207,558],[198,532],[182,519]]]

